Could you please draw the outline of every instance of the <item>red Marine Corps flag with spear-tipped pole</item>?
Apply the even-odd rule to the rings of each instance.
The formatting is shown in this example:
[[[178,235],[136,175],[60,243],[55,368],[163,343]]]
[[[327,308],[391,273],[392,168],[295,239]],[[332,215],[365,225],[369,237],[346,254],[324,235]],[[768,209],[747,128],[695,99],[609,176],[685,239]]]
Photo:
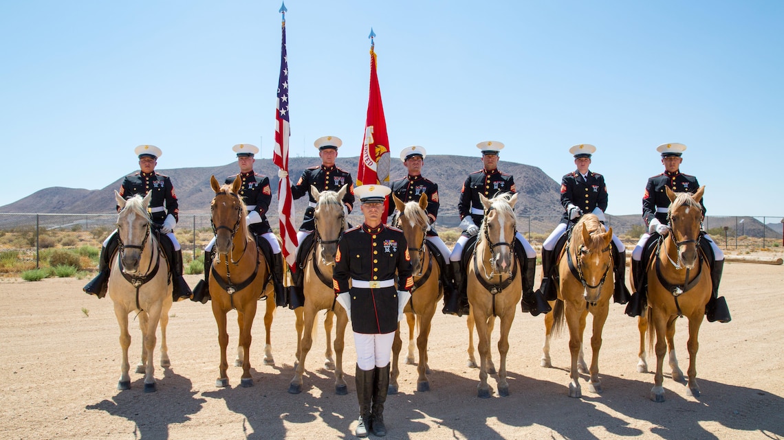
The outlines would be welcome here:
[[[370,98],[368,99],[368,118],[365,121],[365,140],[359,155],[357,186],[382,184],[390,185],[390,148],[387,137],[387,121],[384,120],[384,106],[381,103],[379,77],[376,74],[376,52],[373,51],[376,34],[370,30]],[[387,206],[389,200],[384,202]],[[382,222],[387,222],[387,210],[383,211]]]

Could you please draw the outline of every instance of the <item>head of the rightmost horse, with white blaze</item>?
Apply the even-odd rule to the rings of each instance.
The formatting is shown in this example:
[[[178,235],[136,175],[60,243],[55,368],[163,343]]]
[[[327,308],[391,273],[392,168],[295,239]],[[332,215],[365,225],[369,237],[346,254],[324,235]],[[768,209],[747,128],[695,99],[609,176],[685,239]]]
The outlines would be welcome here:
[[[669,186],[665,190],[671,202],[667,211],[670,239],[677,247],[678,261],[686,269],[694,269],[698,261],[697,242],[702,225],[702,205],[699,201],[705,193],[705,186],[700,186],[694,194],[674,193]]]

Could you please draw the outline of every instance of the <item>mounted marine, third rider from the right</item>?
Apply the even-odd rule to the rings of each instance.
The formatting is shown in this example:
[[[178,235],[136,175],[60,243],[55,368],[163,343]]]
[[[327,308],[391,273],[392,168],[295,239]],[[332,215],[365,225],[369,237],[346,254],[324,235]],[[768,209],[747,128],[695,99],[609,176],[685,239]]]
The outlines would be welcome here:
[[[480,171],[475,171],[468,175],[466,182],[463,182],[463,189],[460,190],[460,200],[457,204],[460,218],[460,227],[463,228],[463,235],[452,248],[449,260],[452,261],[452,271],[455,275],[455,284],[461,290],[459,295],[454,295],[456,301],[450,301],[444,306],[444,313],[462,316],[469,312],[468,297],[463,290],[463,268],[460,260],[463,258],[463,247],[469,239],[476,236],[479,232],[479,225],[485,219],[485,207],[482,205],[479,195],[490,199],[498,193],[516,193],[514,177],[510,174],[498,170],[499,151],[504,147],[502,142],[479,142],[477,148],[482,152],[482,164],[484,167]],[[534,277],[536,271],[536,251],[525,240],[521,233],[517,233],[514,240],[514,251],[517,258],[524,259],[524,276],[521,276],[523,283],[523,295],[521,308],[523,312],[531,312],[533,316],[539,313],[550,312],[550,305],[544,301],[541,295],[533,291]],[[459,298],[457,298],[459,297]]]

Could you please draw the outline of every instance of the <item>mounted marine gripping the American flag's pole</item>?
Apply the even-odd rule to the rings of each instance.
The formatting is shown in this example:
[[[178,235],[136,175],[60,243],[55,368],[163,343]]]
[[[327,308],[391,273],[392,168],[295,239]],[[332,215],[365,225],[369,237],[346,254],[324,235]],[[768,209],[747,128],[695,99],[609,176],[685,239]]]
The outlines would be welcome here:
[[[343,196],[343,215],[349,215],[354,209],[354,179],[351,174],[335,164],[335,159],[338,157],[338,149],[343,145],[343,141],[337,136],[322,136],[313,142],[313,145],[318,149],[318,157],[321,158],[321,165],[316,167],[307,168],[303,171],[299,180],[292,185],[292,197],[294,200],[300,197],[310,198],[310,203],[305,210],[302,225],[299,226],[299,232],[296,234],[297,246],[296,251],[296,267],[292,272],[292,291],[289,293],[290,308],[297,308],[302,304],[303,294],[303,267],[305,265],[304,259],[307,257],[307,251],[310,251],[310,246],[313,244],[313,231],[316,228],[314,222],[314,213],[316,210],[316,200],[313,194],[310,193],[310,186],[318,189],[319,192],[323,191],[339,191],[343,186],[348,186],[346,195]],[[278,176],[283,179],[289,173],[285,170],[278,171]]]

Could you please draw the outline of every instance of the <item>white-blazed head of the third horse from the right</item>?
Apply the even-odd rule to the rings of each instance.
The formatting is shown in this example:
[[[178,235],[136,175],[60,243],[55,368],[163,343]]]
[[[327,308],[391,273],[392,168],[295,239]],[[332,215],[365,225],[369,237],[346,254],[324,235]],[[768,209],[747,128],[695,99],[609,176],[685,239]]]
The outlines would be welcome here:
[[[492,274],[510,275],[514,266],[514,236],[517,233],[517,218],[514,215],[514,204],[517,193],[497,194],[492,199],[479,195],[485,207],[485,220],[479,231],[479,240],[485,240]],[[477,246],[479,243],[477,242]]]

